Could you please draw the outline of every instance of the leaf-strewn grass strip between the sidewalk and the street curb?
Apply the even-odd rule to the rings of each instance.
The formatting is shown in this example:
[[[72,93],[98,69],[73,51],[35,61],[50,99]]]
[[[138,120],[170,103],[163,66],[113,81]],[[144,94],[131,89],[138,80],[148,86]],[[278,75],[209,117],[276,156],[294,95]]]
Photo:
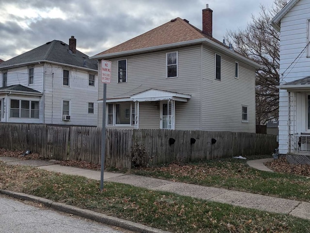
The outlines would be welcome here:
[[[226,163],[218,165],[227,166]],[[36,195],[166,231],[182,233],[310,231],[309,220],[292,216],[208,202],[125,184],[106,182],[103,192],[100,192],[99,186],[99,181],[81,176],[62,175],[0,162],[0,189]]]

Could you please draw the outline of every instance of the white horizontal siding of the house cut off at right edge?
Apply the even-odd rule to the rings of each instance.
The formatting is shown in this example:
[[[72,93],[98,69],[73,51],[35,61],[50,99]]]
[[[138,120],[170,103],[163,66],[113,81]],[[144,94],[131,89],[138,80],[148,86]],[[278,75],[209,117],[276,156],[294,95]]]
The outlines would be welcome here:
[[[307,45],[310,0],[300,0],[281,19],[280,28],[280,83],[285,84],[310,75],[307,49],[297,63],[291,65]],[[290,68],[289,68],[290,67]],[[279,154],[288,153],[288,93],[279,91]],[[298,129],[296,129],[298,130]]]

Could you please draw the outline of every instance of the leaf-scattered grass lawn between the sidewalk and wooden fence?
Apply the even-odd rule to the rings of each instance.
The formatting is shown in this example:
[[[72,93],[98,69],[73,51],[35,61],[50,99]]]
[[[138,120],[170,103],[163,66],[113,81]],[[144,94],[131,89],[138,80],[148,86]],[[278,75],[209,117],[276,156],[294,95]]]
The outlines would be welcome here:
[[[310,202],[309,177],[260,171],[240,159],[175,163],[164,167],[132,169],[131,173]]]

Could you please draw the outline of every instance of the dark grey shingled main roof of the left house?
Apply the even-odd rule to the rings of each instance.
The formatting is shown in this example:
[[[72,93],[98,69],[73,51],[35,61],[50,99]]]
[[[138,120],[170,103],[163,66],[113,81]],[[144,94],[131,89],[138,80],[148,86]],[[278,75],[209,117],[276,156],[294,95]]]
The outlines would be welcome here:
[[[47,42],[15,58],[0,63],[0,69],[46,61],[77,66],[84,69],[98,69],[97,61],[90,59],[86,54],[78,50],[73,54],[69,50],[68,44],[57,40]]]

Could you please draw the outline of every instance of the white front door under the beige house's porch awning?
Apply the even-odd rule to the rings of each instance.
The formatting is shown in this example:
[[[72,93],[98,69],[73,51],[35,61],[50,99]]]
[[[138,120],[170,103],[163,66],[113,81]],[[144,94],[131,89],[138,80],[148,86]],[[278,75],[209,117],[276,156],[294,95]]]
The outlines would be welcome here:
[[[160,102],[160,129],[174,130],[174,101]]]

